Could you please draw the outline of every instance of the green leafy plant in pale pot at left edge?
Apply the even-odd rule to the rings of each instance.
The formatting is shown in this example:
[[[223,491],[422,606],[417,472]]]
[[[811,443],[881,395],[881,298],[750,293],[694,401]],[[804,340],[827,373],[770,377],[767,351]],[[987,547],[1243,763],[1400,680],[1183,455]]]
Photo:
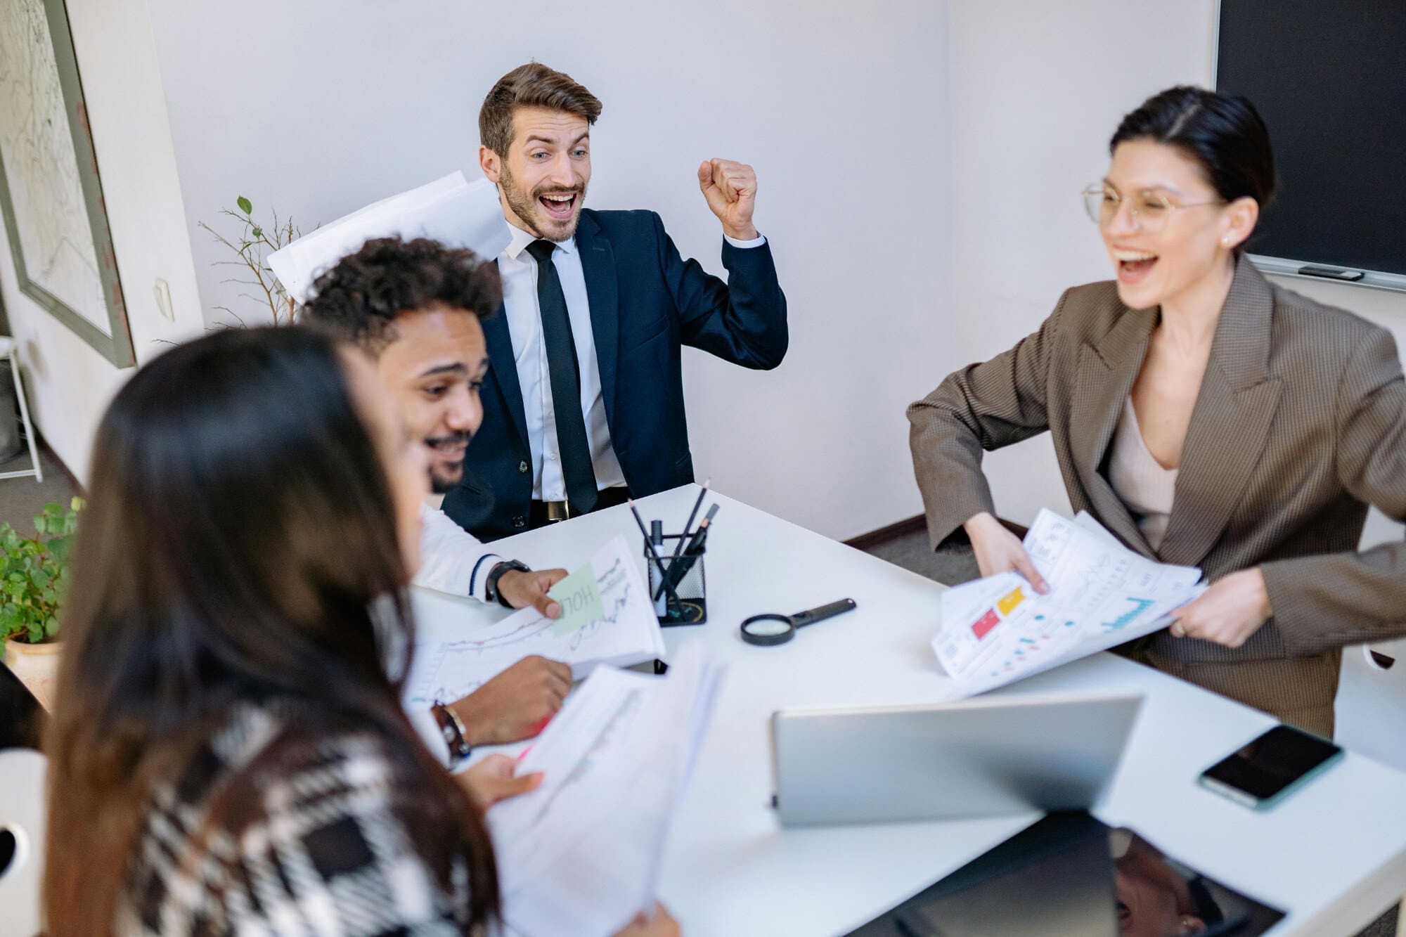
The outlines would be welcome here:
[[[82,498],[67,511],[44,505],[35,535],[21,536],[0,523],[0,636],[4,663],[39,703],[53,702],[59,670],[59,605],[69,584],[69,547],[77,530]]]

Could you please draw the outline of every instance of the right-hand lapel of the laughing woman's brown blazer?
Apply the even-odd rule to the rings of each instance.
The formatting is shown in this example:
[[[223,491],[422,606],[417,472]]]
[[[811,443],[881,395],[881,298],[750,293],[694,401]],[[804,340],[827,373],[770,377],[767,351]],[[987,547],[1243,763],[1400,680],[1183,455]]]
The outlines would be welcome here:
[[[1181,447],[1166,563],[1197,566],[1215,546],[1270,436],[1282,385],[1271,377],[1274,293],[1244,257],[1236,266],[1211,360]]]

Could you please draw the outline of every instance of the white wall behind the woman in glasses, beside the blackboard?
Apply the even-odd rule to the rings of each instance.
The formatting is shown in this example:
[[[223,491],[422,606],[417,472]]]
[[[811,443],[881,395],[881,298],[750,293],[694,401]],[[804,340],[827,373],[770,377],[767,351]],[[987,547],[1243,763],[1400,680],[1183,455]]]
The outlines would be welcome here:
[[[1213,0],[953,0],[952,315],[983,360],[1033,332],[1060,293],[1112,276],[1078,191],[1108,167],[1119,118],[1150,94],[1211,80]],[[1274,128],[1270,128],[1271,134]],[[1406,294],[1282,280],[1396,332]],[[987,457],[998,511],[1067,509],[1049,436]],[[1400,536],[1375,515],[1367,539]]]

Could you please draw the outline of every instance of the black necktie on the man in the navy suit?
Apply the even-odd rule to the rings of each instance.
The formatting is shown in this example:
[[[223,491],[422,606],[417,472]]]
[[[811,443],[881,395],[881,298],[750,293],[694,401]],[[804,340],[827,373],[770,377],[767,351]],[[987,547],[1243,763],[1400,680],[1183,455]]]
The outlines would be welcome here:
[[[567,295],[561,291],[551,241],[533,241],[527,253],[537,260],[537,308],[541,312],[541,340],[547,346],[547,374],[551,378],[551,407],[557,412],[557,449],[561,474],[567,480],[571,514],[596,506],[596,473],[591,467],[591,440],[581,415],[581,367],[571,336]]]

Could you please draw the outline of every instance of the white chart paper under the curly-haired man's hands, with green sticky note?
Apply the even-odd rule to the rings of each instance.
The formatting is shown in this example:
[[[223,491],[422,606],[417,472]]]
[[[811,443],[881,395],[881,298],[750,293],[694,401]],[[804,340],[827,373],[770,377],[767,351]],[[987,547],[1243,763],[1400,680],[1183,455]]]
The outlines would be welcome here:
[[[662,657],[659,619],[624,536],[596,550],[591,567],[603,613],[560,635],[557,622],[530,608],[478,627],[454,620],[453,612],[436,609],[426,615],[422,609],[430,605],[461,599],[415,589],[412,602],[420,625],[405,681],[405,708],[416,712],[436,699],[461,699],[529,654],[571,664],[578,680],[599,664],[628,667]]]

